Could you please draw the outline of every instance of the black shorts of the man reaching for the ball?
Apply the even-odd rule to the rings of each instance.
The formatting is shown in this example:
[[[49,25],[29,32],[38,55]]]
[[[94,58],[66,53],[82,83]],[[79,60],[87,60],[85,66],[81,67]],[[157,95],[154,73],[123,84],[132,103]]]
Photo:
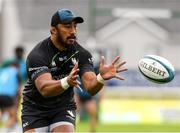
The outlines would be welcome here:
[[[60,125],[72,125],[75,127],[76,111],[73,110],[42,110],[36,107],[23,106],[22,109],[23,132],[35,129],[37,132],[51,132]]]

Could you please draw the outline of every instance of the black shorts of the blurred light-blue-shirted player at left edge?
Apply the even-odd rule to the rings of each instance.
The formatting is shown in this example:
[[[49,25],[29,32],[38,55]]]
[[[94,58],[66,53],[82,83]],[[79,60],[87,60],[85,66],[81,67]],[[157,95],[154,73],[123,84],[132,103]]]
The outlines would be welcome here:
[[[12,107],[15,104],[14,101],[13,97],[0,95],[0,109]]]

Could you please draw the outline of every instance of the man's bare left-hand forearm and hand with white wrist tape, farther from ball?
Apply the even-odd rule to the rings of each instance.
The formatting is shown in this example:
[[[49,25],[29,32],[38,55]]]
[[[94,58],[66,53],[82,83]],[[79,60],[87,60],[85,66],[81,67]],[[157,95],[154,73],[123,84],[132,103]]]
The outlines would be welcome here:
[[[59,94],[62,94],[70,86],[79,86],[79,82],[77,81],[78,72],[78,63],[76,63],[67,77],[61,80],[53,80],[50,73],[44,73],[36,78],[35,85],[42,96],[57,96]]]

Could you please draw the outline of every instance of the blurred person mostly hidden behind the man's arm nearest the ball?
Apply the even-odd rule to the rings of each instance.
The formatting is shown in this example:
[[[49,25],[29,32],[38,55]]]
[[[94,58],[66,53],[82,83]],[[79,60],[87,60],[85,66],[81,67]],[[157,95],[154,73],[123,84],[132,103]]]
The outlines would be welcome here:
[[[94,53],[93,62],[94,62],[94,71],[99,74],[99,61],[100,55]],[[81,79],[78,79],[81,82]],[[82,90],[75,89],[75,100],[77,105],[77,113],[79,114],[80,121],[89,116],[89,130],[90,132],[96,132],[96,127],[98,123],[98,114],[100,108],[100,100],[102,99],[103,90],[101,90],[95,96],[91,96],[84,86],[81,84],[80,87]],[[87,113],[87,114],[86,114]]]

